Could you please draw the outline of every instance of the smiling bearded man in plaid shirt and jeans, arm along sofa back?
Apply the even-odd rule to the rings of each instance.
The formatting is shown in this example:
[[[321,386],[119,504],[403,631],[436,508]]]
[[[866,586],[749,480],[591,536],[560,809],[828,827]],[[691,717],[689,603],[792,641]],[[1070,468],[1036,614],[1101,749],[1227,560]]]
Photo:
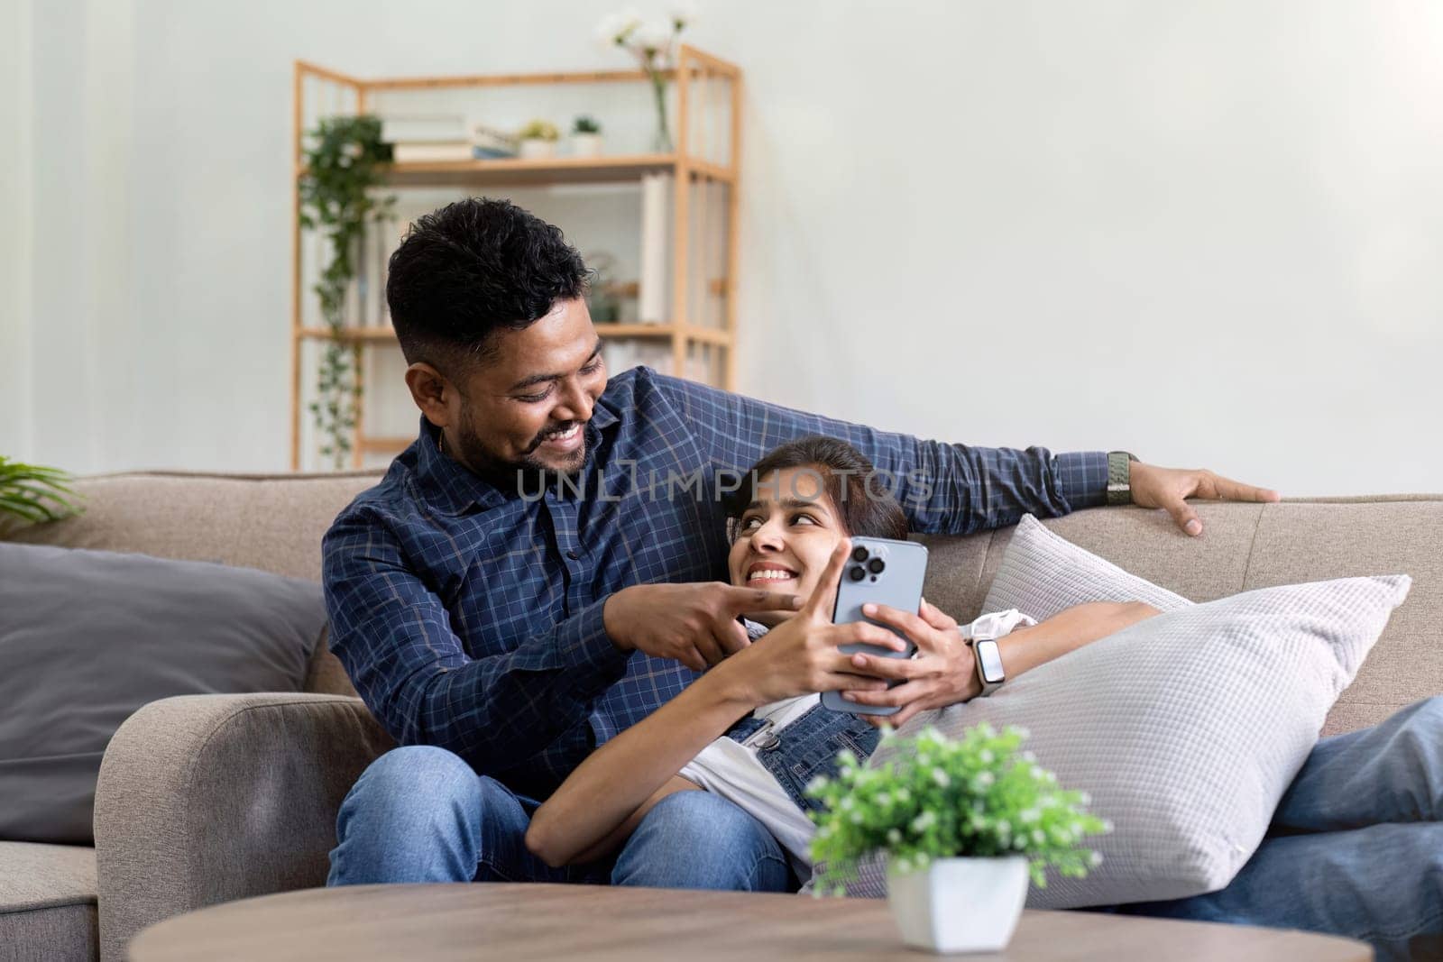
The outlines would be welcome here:
[[[584,287],[561,232],[498,200],[421,218],[391,258],[420,437],[336,519],[325,583],[332,650],[404,747],[346,796],[330,884],[758,887],[775,839],[707,792],[657,805],[602,864],[553,870],[524,837],[535,799],[587,753],[747,643],[742,613],[799,606],[723,583],[720,495],[782,441],[850,441],[925,532],[1056,516],[1128,486],[1192,535],[1186,498],[1277,500],[1123,453],[922,441],[648,369],[608,381]],[[913,640],[908,684],[872,695],[902,705],[899,723],[958,701],[971,674],[961,639]]]

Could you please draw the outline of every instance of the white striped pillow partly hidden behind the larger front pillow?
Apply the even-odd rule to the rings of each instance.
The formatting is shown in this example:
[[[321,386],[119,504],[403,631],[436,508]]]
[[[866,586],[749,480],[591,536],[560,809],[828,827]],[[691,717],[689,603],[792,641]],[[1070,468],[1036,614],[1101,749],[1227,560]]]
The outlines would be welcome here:
[[[1147,601],[1163,612],[1192,604],[1023,515],[987,588],[983,612],[1017,609],[1042,622],[1087,601]]]

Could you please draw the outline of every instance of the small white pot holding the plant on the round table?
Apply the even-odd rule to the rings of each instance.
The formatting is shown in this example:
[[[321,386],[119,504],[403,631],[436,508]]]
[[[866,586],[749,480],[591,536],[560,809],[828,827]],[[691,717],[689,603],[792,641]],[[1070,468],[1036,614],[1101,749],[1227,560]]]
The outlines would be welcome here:
[[[1027,901],[1027,860],[939,858],[921,871],[887,867],[887,904],[902,942],[937,953],[1000,952]]]

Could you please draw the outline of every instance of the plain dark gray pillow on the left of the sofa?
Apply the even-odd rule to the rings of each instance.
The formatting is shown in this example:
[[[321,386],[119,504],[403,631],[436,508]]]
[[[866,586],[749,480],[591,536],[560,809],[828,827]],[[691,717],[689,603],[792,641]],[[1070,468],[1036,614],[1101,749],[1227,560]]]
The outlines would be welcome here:
[[[325,623],[313,581],[0,544],[0,839],[92,844],[126,718],[170,695],[300,691]]]

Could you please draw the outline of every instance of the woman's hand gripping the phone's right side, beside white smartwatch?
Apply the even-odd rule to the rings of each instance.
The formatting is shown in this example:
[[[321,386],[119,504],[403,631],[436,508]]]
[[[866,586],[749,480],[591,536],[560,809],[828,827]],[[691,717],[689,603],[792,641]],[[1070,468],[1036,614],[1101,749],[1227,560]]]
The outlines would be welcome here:
[[[879,658],[861,653],[851,656],[851,666],[859,674],[906,682],[886,691],[843,694],[843,698],[859,705],[902,707],[902,711],[893,715],[863,715],[874,727],[900,727],[919,711],[944,708],[978,694],[973,649],[957,630],[957,619],[951,614],[929,604],[926,599],[922,599],[921,616],[886,604],[864,604],[861,613],[890,625],[916,642],[916,658]]]

